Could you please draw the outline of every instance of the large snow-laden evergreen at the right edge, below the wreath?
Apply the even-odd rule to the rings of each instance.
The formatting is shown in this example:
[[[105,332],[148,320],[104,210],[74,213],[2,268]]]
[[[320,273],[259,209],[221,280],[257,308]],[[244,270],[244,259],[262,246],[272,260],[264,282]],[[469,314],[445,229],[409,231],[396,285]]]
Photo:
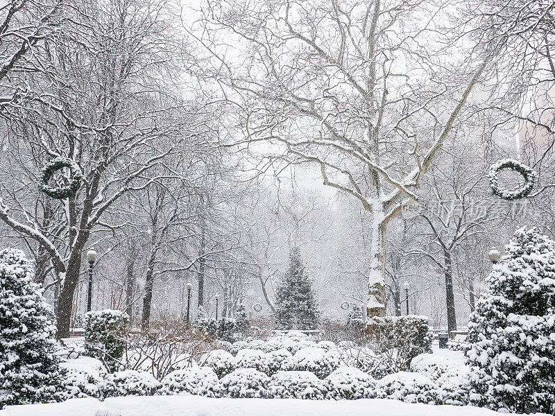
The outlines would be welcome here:
[[[468,324],[478,406],[555,410],[555,242],[518,229]]]

